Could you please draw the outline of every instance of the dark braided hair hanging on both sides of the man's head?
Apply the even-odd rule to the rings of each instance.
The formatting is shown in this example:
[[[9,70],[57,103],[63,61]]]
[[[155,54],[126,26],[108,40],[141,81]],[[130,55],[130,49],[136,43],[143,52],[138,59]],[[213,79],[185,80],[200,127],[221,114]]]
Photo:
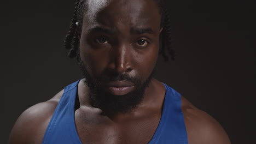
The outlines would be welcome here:
[[[65,48],[69,50],[68,57],[74,58],[77,56],[78,47],[79,47],[79,38],[77,28],[80,26],[77,25],[77,22],[83,23],[83,16],[85,9],[86,0],[75,0],[75,8],[73,19],[69,26],[69,31],[67,32],[65,38]],[[165,61],[168,61],[170,55],[171,59],[174,60],[176,53],[172,49],[172,35],[171,35],[171,19],[168,9],[165,7],[164,0],[154,0],[160,8],[161,14],[161,27],[162,32],[160,34],[160,50],[159,54],[162,55]]]

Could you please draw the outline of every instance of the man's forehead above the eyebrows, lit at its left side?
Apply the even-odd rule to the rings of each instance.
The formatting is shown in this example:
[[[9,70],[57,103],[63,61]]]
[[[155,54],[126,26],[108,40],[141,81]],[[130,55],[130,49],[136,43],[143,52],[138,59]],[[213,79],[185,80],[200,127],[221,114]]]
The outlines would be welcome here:
[[[155,0],[88,0],[85,5],[83,28],[160,27],[161,16]]]

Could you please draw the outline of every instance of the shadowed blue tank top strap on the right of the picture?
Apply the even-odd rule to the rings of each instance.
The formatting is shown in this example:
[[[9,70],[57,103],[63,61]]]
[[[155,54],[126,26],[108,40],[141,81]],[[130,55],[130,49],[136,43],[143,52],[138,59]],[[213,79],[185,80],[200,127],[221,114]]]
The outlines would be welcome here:
[[[188,144],[187,130],[181,109],[181,94],[165,83],[166,93],[158,128],[149,144]]]

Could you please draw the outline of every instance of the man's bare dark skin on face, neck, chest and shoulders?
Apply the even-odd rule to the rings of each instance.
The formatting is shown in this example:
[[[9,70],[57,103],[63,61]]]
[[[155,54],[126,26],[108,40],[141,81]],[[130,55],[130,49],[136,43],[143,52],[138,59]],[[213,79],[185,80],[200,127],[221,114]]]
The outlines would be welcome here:
[[[114,71],[146,80],[158,58],[162,29],[158,5],[146,0],[132,0],[129,3],[101,1],[96,5],[89,2],[83,25],[78,23],[80,57],[89,67],[89,74],[95,77]],[[95,26],[109,31],[100,31],[99,28],[92,31]],[[83,143],[141,144],[152,139],[161,118],[165,97],[165,87],[161,82],[153,79],[149,83],[144,99],[136,109],[111,116],[102,115],[101,109],[92,106],[89,92],[90,88],[80,81],[80,107],[75,110],[75,124]],[[11,131],[9,143],[42,143],[62,93],[63,90],[52,99],[23,112]],[[182,111],[190,144],[230,143],[220,124],[207,113],[196,109],[184,97]]]

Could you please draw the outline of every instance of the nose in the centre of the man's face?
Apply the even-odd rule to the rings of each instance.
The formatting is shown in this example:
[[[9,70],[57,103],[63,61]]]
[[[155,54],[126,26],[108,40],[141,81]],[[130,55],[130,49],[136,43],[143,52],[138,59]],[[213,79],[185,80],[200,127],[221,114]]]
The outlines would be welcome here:
[[[110,70],[117,74],[127,73],[132,70],[131,68],[131,47],[129,45],[120,45],[113,47],[110,52]]]

